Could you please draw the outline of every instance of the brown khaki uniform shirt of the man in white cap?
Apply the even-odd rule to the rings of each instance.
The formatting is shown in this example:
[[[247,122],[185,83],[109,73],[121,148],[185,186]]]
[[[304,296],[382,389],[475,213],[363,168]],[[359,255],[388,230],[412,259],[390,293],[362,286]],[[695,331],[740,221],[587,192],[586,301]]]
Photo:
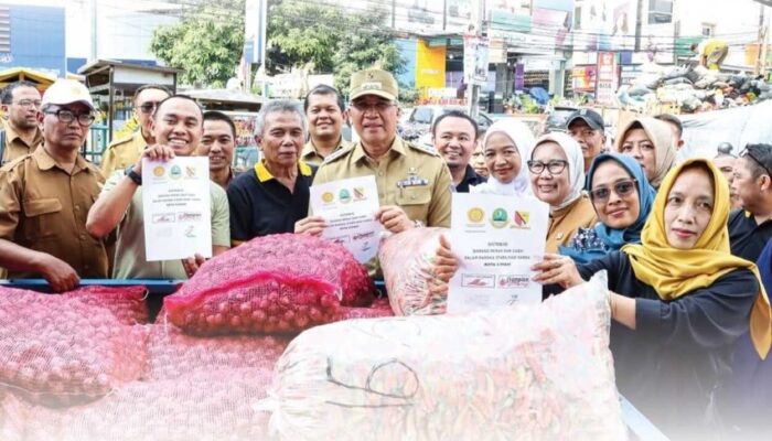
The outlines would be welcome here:
[[[82,278],[107,278],[103,240],[86,230],[86,216],[105,178],[78,155],[71,173],[45,149],[0,169],[0,238],[67,262]],[[11,278],[40,277],[9,271]]]

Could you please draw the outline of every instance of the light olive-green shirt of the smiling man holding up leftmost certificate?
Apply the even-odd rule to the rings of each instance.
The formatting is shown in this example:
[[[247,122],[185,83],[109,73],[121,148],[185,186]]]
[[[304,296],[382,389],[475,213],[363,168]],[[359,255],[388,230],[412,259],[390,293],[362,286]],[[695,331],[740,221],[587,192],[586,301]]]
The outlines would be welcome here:
[[[115,171],[105,183],[103,193],[112,190],[126,179]],[[210,181],[212,215],[212,245],[230,247],[230,213],[228,198],[222,186]],[[181,260],[148,261],[144,255],[144,209],[142,187],[135,191],[124,219],[118,224],[118,240],[112,269],[116,279],[187,279]]]

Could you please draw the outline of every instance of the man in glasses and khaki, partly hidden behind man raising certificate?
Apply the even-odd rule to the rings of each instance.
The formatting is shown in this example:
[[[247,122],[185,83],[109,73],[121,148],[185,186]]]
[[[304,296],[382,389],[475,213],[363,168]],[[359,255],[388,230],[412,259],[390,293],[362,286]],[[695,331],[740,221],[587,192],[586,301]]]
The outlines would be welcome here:
[[[159,103],[171,96],[169,89],[156,84],[147,84],[137,89],[133,97],[135,117],[139,121],[139,130],[133,135],[112,141],[101,154],[101,172],[110,176],[116,170],[125,170],[137,162],[148,146],[156,143],[150,117]]]

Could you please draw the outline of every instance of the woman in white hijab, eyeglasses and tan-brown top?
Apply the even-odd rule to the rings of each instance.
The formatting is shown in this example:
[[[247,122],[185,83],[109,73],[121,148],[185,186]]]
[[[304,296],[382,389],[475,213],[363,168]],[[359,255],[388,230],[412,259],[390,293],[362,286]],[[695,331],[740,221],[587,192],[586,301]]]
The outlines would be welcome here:
[[[549,227],[546,252],[557,252],[579,228],[596,224],[590,200],[581,194],[585,185],[585,159],[573,138],[548,133],[536,141],[528,161],[530,189],[542,202],[549,204]]]

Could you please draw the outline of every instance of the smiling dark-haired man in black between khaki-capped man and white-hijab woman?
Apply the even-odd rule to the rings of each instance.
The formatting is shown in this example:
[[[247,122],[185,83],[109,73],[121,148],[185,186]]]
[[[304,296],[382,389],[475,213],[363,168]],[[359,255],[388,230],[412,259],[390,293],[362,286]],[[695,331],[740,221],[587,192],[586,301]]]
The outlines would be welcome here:
[[[478,133],[474,119],[460,110],[451,110],[440,116],[431,127],[435,149],[448,164],[458,193],[469,193],[470,186],[486,181],[469,164],[478,142]]]

